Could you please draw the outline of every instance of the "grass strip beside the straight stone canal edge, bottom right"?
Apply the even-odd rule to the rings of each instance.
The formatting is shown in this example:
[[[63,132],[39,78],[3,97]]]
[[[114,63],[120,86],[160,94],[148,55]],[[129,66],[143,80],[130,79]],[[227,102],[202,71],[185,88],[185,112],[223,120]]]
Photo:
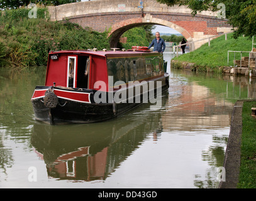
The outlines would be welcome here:
[[[238,188],[256,188],[256,119],[251,116],[256,102],[243,102],[241,165]]]

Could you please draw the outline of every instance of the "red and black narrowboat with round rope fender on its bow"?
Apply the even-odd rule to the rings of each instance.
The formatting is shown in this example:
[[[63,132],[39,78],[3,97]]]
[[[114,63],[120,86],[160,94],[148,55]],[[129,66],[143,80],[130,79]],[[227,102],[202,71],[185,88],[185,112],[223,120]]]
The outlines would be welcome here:
[[[117,117],[169,88],[162,53],[132,50],[61,50],[48,54],[45,86],[31,97],[35,119],[50,124]],[[154,102],[155,101],[155,102]]]

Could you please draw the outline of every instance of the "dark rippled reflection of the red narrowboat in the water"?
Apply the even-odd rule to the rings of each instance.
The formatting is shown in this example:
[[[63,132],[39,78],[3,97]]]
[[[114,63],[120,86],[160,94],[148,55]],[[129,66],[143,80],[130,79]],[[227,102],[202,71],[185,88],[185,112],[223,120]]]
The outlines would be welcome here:
[[[166,99],[168,92],[162,95],[162,106]],[[119,119],[94,124],[36,123],[31,144],[45,161],[48,177],[88,182],[104,180],[148,134],[153,134],[156,140],[162,132],[160,119],[164,107],[149,110],[150,104],[143,104]]]

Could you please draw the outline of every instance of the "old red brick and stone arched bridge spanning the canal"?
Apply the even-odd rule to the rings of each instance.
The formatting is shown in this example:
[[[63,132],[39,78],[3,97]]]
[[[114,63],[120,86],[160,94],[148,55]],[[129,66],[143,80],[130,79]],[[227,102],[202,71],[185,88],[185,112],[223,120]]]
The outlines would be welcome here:
[[[143,6],[139,8],[138,6]],[[49,6],[52,21],[69,19],[83,28],[103,32],[110,30],[109,43],[116,47],[125,31],[144,24],[159,24],[179,31],[188,41],[231,31],[226,19],[217,18],[217,13],[204,11],[196,16],[186,6],[169,7],[155,0],[96,0]],[[201,40],[194,48],[206,43]]]

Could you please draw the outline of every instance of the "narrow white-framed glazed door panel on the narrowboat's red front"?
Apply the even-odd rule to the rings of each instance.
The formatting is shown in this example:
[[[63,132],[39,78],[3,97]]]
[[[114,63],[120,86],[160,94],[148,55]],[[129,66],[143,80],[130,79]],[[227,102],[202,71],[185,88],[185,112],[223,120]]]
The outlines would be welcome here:
[[[67,87],[75,87],[76,57],[68,57],[67,63]]]

